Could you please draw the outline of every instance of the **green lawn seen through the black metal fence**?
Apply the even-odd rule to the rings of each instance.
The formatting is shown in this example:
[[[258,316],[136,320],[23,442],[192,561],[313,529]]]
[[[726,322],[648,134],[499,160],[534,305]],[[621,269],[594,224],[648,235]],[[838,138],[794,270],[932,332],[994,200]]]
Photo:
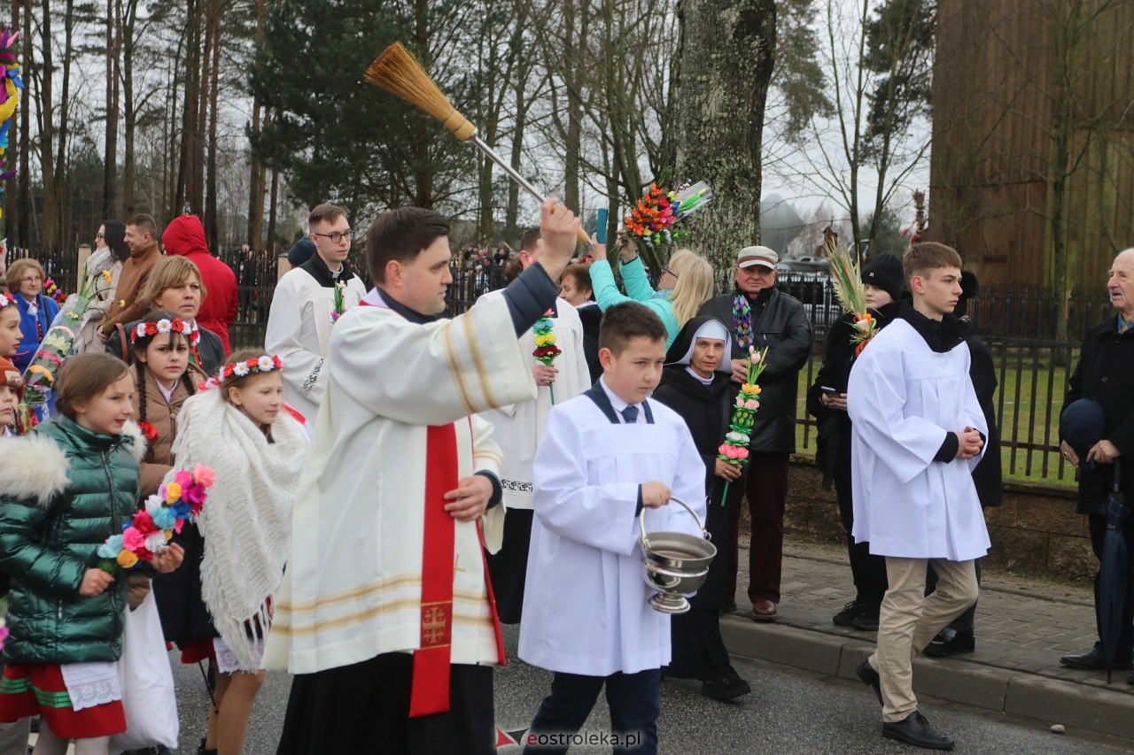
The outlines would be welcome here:
[[[1038,346],[992,345],[997,365],[996,407],[1000,425],[1000,464],[1005,482],[1075,485],[1075,469],[1064,463],[1059,444],[1059,414],[1067,379],[1078,358],[1077,349],[1058,349],[1067,364],[1057,364],[1052,349]],[[814,381],[821,357],[799,371],[796,417],[806,416],[807,388]],[[812,419],[812,417],[807,417]],[[796,448],[815,452],[814,425],[796,425]]]

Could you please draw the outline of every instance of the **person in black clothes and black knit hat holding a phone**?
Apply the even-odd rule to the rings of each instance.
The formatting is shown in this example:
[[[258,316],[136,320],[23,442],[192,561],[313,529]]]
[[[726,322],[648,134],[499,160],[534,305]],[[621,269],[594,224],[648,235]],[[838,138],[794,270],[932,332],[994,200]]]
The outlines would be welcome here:
[[[862,271],[866,288],[866,306],[878,323],[885,328],[894,319],[902,298],[902,260],[883,254]],[[855,599],[832,617],[840,627],[863,631],[878,629],[879,608],[886,593],[886,559],[871,555],[870,543],[855,543],[850,536],[854,510],[850,495],[850,417],[847,416],[847,379],[856,358],[852,338],[857,332],[854,315],[846,314],[836,321],[823,345],[823,366],[807,391],[807,413],[819,421],[819,450],[815,459],[823,470],[823,487],[835,482],[839,503],[839,518],[847,535],[847,555],[854,579]]]

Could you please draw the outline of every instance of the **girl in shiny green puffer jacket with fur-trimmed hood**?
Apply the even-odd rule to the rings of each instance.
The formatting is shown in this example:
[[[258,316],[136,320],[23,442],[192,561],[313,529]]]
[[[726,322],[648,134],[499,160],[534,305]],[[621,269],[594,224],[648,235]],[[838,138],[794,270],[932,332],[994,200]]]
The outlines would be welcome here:
[[[104,354],[59,372],[59,416],[0,442],[0,568],[11,576],[8,668],[0,722],[40,714],[36,753],[104,755],[126,730],[118,673],[126,579],[99,569],[96,551],[136,510],[145,442],[130,397],[134,376]],[[181,562],[171,546],[151,561]]]

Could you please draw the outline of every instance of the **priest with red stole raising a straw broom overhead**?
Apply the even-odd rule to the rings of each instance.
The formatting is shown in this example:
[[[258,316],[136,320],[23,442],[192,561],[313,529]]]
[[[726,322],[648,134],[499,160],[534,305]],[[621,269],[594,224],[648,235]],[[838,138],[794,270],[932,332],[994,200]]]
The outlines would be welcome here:
[[[535,398],[516,339],[579,227],[540,210],[540,263],[452,320],[445,218],[388,210],[366,234],[375,288],[331,331],[264,655],[295,675],[278,755],[496,752],[505,658],[480,533],[502,514],[500,452],[475,414]]]

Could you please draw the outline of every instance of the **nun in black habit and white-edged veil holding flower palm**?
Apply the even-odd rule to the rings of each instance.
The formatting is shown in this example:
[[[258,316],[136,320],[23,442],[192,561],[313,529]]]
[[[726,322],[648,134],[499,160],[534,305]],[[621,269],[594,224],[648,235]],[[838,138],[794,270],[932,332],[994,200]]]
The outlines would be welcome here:
[[[661,384],[653,399],[679,414],[689,427],[693,441],[705,465],[705,492],[709,497],[705,528],[713,542],[727,543],[730,520],[721,506],[725,483],[738,480],[739,468],[717,459],[717,449],[733,413],[728,385],[731,380],[731,355],[728,328],[713,317],[694,317],[685,323],[666,354]],[[700,679],[701,694],[728,701],[752,692],[729,663],[728,651],[720,636],[720,612],[725,608],[727,563],[720,554],[709,567],[709,576],[696,595],[689,599],[692,609],[677,614],[670,623],[672,660],[663,670],[668,677]]]

